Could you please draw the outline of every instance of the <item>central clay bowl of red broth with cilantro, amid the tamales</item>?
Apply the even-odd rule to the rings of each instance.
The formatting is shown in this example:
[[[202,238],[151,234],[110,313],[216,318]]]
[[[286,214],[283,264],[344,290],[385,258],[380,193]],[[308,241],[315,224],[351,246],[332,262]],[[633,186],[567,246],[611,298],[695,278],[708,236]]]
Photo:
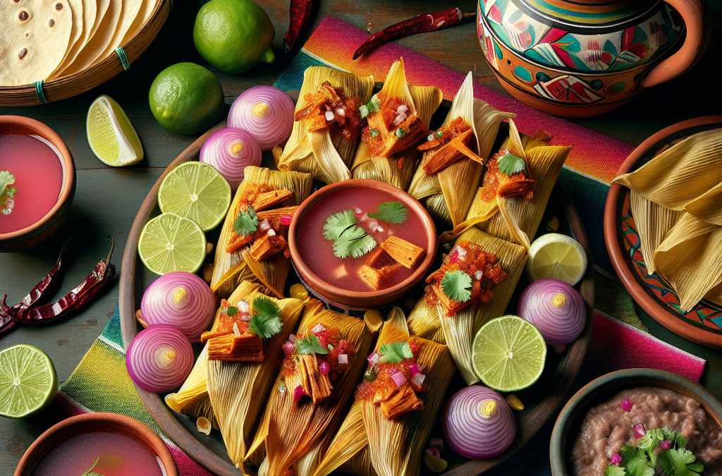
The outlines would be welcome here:
[[[436,254],[436,228],[422,204],[371,179],[316,191],[293,215],[288,238],[303,281],[331,303],[357,309],[403,298]]]

